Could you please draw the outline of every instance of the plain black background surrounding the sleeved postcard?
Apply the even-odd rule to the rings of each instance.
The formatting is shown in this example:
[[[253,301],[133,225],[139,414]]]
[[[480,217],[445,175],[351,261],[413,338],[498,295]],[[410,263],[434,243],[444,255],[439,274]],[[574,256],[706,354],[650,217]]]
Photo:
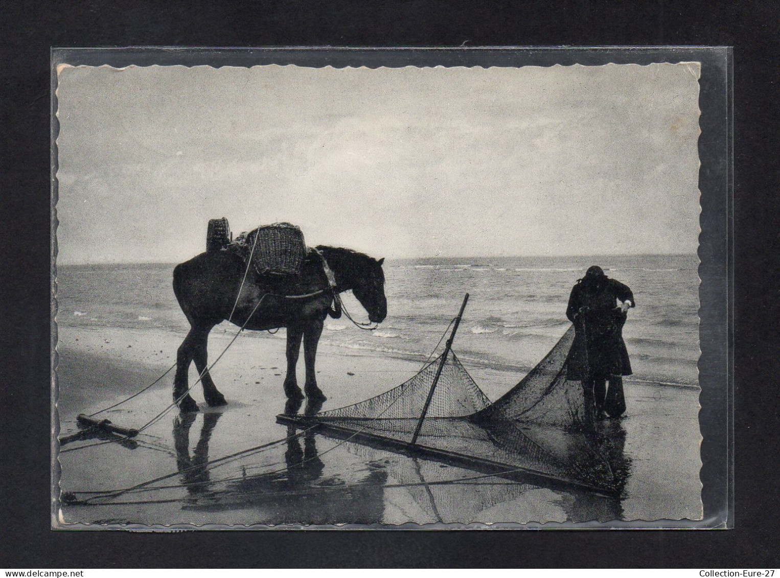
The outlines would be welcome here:
[[[5,2],[0,12],[0,566],[778,566],[778,6],[772,0]],[[736,529],[49,530],[49,49],[464,42],[735,47]]]

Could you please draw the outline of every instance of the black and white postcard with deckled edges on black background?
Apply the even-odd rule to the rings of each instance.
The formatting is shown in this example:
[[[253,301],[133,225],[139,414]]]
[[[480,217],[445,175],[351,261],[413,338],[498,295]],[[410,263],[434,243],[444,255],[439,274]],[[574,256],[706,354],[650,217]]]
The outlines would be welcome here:
[[[703,518],[700,62],[55,74],[53,528]]]

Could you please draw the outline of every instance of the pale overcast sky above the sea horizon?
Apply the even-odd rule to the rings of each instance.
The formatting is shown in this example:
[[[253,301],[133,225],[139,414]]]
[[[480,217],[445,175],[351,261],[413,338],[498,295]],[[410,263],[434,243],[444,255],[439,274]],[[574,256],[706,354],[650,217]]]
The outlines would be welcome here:
[[[699,66],[59,73],[58,262],[209,218],[374,257],[693,253]]]

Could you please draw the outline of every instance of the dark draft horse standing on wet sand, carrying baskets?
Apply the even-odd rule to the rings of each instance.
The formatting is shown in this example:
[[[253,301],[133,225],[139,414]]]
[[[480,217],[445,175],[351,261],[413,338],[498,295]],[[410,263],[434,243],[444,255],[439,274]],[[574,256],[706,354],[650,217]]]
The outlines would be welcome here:
[[[222,406],[227,403],[207,370],[209,332],[225,320],[253,331],[287,328],[284,380],[287,398],[303,399],[305,392],[311,400],[326,399],[317,386],[314,371],[324,319],[328,314],[339,316],[338,295],[351,290],[372,323],[385,321],[384,261],[384,257],[377,260],[351,249],[321,245],[308,252],[300,275],[288,279],[274,280],[254,275],[254,271],[253,275],[247,275],[249,271],[243,258],[229,250],[207,250],[176,265],[173,293],[190,322],[190,332],[176,353],[173,399],[179,410],[198,410],[188,392],[188,374],[193,360],[207,404]],[[324,264],[332,271],[335,285],[328,282]],[[334,302],[338,312],[331,308]],[[306,363],[303,392],[296,379],[301,341]]]

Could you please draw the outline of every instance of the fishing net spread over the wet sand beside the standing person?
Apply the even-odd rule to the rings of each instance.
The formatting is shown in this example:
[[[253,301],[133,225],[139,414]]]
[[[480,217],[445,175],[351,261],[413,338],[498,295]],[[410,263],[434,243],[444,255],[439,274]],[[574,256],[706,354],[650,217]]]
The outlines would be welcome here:
[[[580,381],[567,379],[573,341],[572,327],[518,385],[492,404],[447,348],[388,392],[309,420],[377,447],[384,442],[491,471],[619,491],[605,449],[608,441],[586,412]]]

